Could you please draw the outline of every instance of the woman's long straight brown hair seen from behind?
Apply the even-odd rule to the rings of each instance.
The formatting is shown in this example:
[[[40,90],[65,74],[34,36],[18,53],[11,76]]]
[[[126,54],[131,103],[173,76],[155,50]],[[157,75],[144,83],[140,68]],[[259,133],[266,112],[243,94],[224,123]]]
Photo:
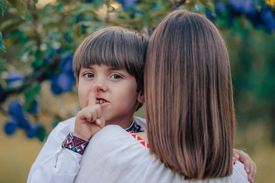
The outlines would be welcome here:
[[[186,178],[231,175],[232,81],[217,28],[196,13],[168,14],[149,40],[144,77],[151,153]]]

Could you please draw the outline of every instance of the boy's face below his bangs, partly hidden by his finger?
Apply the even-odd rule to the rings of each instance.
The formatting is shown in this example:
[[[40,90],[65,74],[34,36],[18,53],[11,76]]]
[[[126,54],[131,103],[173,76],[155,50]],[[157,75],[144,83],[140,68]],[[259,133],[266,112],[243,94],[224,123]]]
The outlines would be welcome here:
[[[139,102],[144,102],[142,92],[137,92],[135,77],[111,66],[82,67],[77,84],[80,106],[87,107],[89,93],[94,93],[107,125],[129,127]]]

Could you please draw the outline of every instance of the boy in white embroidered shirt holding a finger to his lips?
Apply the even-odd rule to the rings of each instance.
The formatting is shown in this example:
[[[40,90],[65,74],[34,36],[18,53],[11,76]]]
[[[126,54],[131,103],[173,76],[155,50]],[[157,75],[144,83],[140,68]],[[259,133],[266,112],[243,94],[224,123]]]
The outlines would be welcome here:
[[[144,119],[133,114],[144,102],[147,45],[147,38],[120,27],[100,29],[80,44],[73,68],[83,109],[52,130],[28,182],[74,182],[89,139],[105,123],[131,132],[145,130]]]

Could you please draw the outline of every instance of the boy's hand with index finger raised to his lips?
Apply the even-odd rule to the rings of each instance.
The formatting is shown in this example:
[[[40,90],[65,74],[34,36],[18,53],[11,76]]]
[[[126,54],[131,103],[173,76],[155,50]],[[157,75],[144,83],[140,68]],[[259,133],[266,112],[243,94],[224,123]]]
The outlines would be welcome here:
[[[74,124],[74,136],[89,141],[105,125],[105,120],[101,117],[101,106],[96,104],[96,96],[89,94],[88,106],[83,108],[76,115]]]

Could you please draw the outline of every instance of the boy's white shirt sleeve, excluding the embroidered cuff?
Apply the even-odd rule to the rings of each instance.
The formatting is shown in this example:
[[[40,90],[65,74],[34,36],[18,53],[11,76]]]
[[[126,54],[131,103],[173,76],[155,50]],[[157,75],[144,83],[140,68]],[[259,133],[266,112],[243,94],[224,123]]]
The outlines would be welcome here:
[[[61,147],[69,130],[72,130],[72,127],[64,127],[61,124],[50,133],[32,165],[28,183],[74,182],[82,155]]]

